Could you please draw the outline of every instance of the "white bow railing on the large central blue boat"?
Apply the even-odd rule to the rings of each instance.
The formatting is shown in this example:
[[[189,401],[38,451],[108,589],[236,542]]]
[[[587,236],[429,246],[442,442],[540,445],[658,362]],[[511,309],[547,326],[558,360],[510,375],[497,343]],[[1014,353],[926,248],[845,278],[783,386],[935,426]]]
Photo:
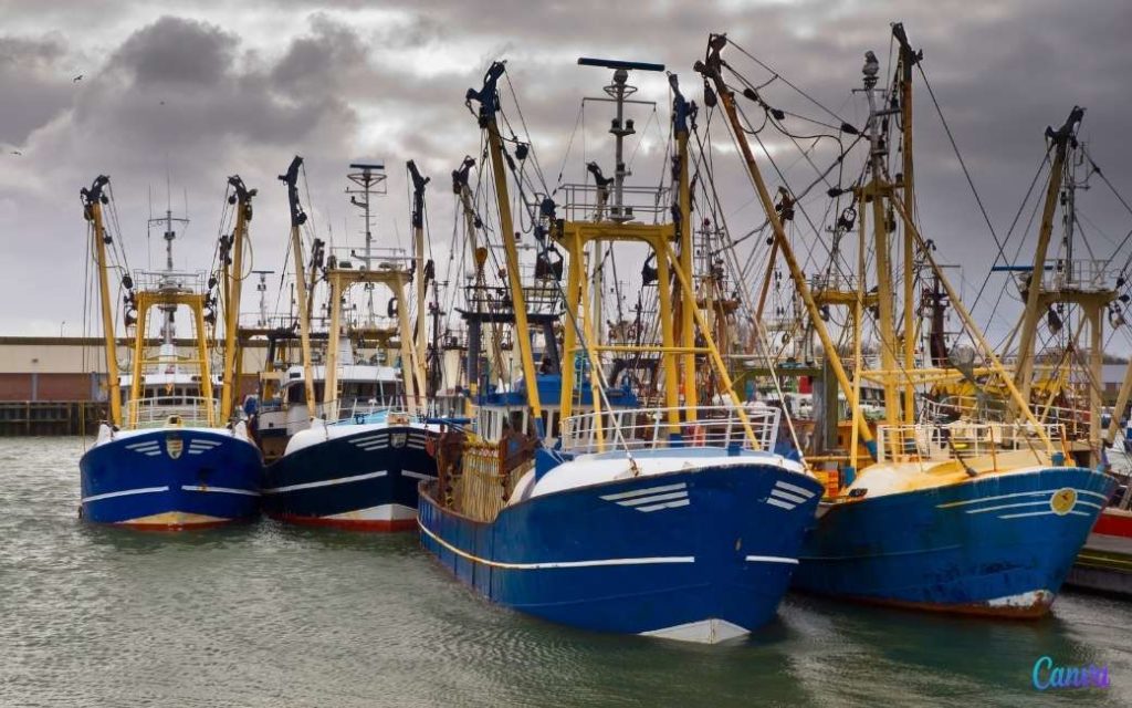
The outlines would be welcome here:
[[[773,450],[778,440],[781,411],[777,408],[752,406],[744,409],[753,438],[747,435],[743,418],[734,407],[696,408],[694,419],[689,419],[688,409],[676,409],[676,423],[669,421],[671,411],[668,408],[621,409],[571,416],[563,421],[561,447],[575,454],[666,447]]]

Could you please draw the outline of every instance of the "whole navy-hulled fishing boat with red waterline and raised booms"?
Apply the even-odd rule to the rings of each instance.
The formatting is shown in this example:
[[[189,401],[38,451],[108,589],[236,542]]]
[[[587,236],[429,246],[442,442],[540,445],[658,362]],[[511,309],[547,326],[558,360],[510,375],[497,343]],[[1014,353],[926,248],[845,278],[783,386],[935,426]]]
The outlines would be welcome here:
[[[286,389],[297,394],[301,386],[305,395],[301,399],[289,395],[292,402],[289,410],[309,417],[302,429],[290,436],[283,455],[266,468],[264,510],[291,523],[353,530],[411,530],[417,526],[417,486],[422,480],[436,478],[436,460],[428,447],[440,432],[438,425],[426,420],[421,400],[426,394],[426,375],[405,307],[406,287],[415,278],[420,298],[418,312],[423,309],[420,306],[426,271],[422,213],[427,180],[410,163],[409,169],[417,178],[413,216],[417,257],[410,262],[372,255],[367,190],[365,251],[341,257],[332,253],[323,268],[323,278],[329,283],[331,322],[325,364],[315,366],[310,344],[310,292],[300,238],[300,228],[307,221],[297,187],[301,165],[302,159],[297,156],[280,179],[288,187],[290,201],[291,250],[303,361],[301,370],[291,370]],[[378,170],[384,179],[380,165],[354,167],[365,176],[366,184],[377,179],[375,172]],[[358,259],[360,267],[353,267],[352,259]],[[311,272],[317,266],[316,262]],[[397,381],[393,367],[355,360],[351,338],[342,322],[343,304],[354,284],[367,289],[384,285],[397,304],[394,314],[403,381]],[[423,334],[423,324],[420,317],[418,335]],[[317,385],[319,383],[321,386]]]

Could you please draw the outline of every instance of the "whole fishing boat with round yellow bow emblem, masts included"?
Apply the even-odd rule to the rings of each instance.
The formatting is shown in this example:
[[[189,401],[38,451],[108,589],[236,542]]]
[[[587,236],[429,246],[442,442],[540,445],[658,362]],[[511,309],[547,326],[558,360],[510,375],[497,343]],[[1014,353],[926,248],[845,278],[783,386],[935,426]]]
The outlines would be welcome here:
[[[893,37],[899,48],[894,80],[890,87],[878,86],[880,63],[869,52],[863,88],[868,123],[864,130],[847,122],[840,128],[850,139],[859,136],[868,148],[866,167],[854,186],[830,189],[832,197],[850,199],[848,210],[834,211],[842,217],[833,242],[852,230],[859,237],[857,275],[841,279],[852,284],[842,291],[815,292],[804,276],[783,229],[783,210],[775,208],[748,143],[745,126],[758,122],[744,123],[731,85],[747,86],[743,95],[769,116],[769,125],[778,123],[783,113],[765,89],[753,88],[757,82],[722,60],[729,44],[726,35],[711,36],[706,57],[696,66],[712,91],[709,105],[721,105],[726,113],[773,231],[773,253],[786,262],[830,374],[852,410],[847,444],[825,455],[827,474],[837,481],[807,532],[794,585],[844,599],[937,612],[1041,615],[1061,589],[1114,480],[1097,469],[1073,466],[1063,429],[1035,416],[940,267],[936,246],[920,234],[914,217],[911,76],[923,54],[911,49],[902,26],[893,27]],[[900,130],[890,134],[897,126]],[[1072,129],[1050,131],[1060,157]],[[902,159],[892,170],[899,171],[897,179],[890,176],[890,154]],[[792,195],[790,203],[796,198]],[[865,281],[869,245],[875,288]],[[900,253],[902,258],[893,255]],[[903,264],[902,289],[893,287],[897,263]],[[993,381],[1006,392],[1012,419],[940,423],[918,416],[923,407],[917,407],[917,389],[962,374],[958,365],[931,368],[917,360],[912,318],[918,263],[938,280],[963,323],[964,336],[983,358],[985,366],[976,372],[980,385]],[[826,325],[834,306],[848,310],[852,378]],[[864,366],[861,329],[867,316],[875,319],[880,335],[880,369]],[[875,426],[860,406],[859,382],[866,377],[884,387],[884,418]]]

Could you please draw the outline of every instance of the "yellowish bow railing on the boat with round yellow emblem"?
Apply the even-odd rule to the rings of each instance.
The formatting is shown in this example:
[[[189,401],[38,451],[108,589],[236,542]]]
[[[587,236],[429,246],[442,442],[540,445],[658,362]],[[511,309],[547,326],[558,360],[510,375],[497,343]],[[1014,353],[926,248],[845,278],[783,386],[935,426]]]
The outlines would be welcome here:
[[[1041,426],[1052,441],[1065,438],[1064,426]],[[1014,450],[1044,450],[1029,423],[881,425],[876,428],[877,462],[927,462],[993,455]]]

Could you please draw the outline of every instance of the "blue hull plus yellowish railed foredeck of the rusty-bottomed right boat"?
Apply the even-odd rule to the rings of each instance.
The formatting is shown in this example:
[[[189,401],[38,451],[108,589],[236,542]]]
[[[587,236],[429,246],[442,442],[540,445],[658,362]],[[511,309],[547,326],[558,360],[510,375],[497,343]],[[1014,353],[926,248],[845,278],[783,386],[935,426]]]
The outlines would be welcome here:
[[[880,433],[892,451],[894,430]],[[1046,613],[1116,483],[1012,433],[963,424],[906,435],[899,454],[882,453],[822,505],[796,587],[937,612]],[[971,454],[957,458],[957,446]]]

